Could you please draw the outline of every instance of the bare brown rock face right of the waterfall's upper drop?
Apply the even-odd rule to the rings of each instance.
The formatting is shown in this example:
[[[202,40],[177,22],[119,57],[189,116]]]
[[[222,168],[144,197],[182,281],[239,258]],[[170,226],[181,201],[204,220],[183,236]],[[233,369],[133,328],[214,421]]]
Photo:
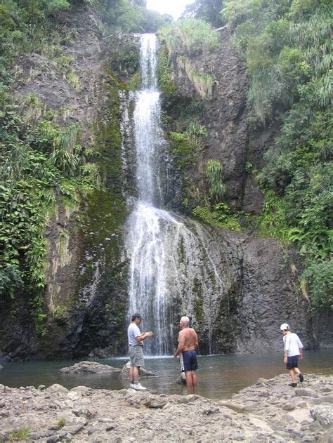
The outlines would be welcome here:
[[[218,32],[221,34],[221,45],[217,51],[191,58],[195,70],[212,75],[214,86],[211,100],[204,100],[200,117],[201,124],[207,128],[209,135],[204,140],[204,150],[197,152],[199,164],[190,174],[201,187],[200,192],[206,194],[207,190],[201,183],[202,180],[205,181],[205,164],[209,159],[219,160],[227,186],[226,199],[233,206],[240,207],[247,160],[246,65],[237,57],[227,30]],[[201,99],[183,68],[176,63],[175,68],[177,96],[165,106],[166,111],[177,119],[184,105],[194,98]]]

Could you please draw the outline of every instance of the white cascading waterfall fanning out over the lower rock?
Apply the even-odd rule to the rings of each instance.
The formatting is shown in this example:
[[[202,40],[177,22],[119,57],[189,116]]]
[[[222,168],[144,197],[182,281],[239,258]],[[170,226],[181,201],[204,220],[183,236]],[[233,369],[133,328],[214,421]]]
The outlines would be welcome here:
[[[223,293],[223,280],[204,246],[207,233],[197,223],[162,209],[161,171],[166,142],[160,127],[157,91],[157,39],[143,34],[141,72],[143,88],[136,93],[133,114],[136,151],[137,200],[126,223],[126,251],[130,258],[129,316],[140,312],[146,355],[170,355],[181,315],[206,317],[210,301]],[[211,350],[211,332],[207,337]]]

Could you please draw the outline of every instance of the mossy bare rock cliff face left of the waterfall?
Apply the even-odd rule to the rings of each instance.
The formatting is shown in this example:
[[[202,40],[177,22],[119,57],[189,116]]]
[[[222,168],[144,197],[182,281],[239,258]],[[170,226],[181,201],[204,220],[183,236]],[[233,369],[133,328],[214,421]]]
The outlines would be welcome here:
[[[98,19],[89,11],[60,17],[55,26],[75,30],[63,60],[70,60],[78,83],[67,81],[57,60],[32,53],[18,60],[22,69],[13,93],[18,101],[28,93],[38,95],[46,111],[62,116],[59,124],[79,123],[81,143],[100,152],[103,189],[86,199],[78,194],[74,205],[64,202],[59,192],[55,215],[44,232],[48,240],[46,329],[42,337],[36,334],[25,294],[18,294],[15,315],[1,312],[0,348],[10,359],[75,357],[98,353],[100,348],[110,348],[111,353],[122,349],[118,339],[119,331],[123,337],[127,305],[126,262],[119,235],[126,218],[119,167],[122,84],[112,69],[118,70],[119,77],[129,78],[138,58],[136,37],[103,38]]]

